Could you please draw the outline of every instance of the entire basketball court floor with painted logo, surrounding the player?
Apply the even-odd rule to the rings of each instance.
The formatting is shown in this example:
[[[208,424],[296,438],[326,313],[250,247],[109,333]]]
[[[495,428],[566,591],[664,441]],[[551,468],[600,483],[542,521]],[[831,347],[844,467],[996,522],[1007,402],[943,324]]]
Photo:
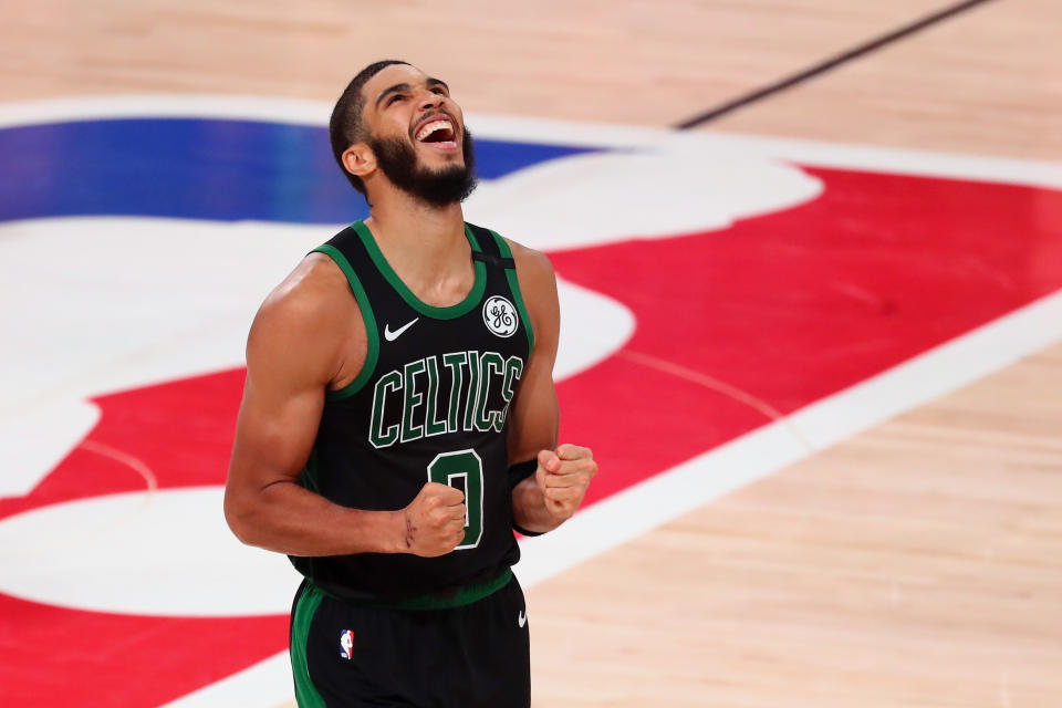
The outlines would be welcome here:
[[[584,509],[537,707],[1062,704],[1062,7],[9,3],[0,705],[294,706],[221,489],[269,290],[367,215],[384,58],[550,254]]]

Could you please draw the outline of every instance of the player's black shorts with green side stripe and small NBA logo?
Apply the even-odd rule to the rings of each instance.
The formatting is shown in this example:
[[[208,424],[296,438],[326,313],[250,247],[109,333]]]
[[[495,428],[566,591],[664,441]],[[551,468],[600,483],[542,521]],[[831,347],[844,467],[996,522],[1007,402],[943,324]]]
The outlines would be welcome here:
[[[528,708],[529,632],[516,576],[471,604],[367,607],[303,581],[291,612],[301,708]]]

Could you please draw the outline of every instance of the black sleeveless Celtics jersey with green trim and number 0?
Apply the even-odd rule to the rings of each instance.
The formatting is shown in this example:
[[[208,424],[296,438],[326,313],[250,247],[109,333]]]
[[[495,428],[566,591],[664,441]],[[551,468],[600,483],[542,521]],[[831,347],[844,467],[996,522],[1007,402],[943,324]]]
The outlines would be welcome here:
[[[476,273],[468,295],[421,302],[357,222],[314,249],[350,281],[368,337],[357,377],[325,395],[313,450],[300,476],[345,507],[397,510],[428,481],[465,492],[466,532],[438,558],[358,553],[291,556],[322,590],[389,602],[456,592],[506,573],[520,558],[512,533],[506,424],[533,334],[508,244],[465,225]]]

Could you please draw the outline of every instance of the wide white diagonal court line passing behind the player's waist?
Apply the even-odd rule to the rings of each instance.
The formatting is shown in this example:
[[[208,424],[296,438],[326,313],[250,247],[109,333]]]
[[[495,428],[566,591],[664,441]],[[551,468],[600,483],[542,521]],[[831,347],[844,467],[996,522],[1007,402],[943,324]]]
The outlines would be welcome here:
[[[532,587],[1060,340],[1062,292],[1056,292],[612,494],[580,511],[558,532],[523,539],[516,573],[525,589]],[[800,431],[799,438],[792,428]],[[235,699],[249,708],[267,708],[291,700],[290,684],[288,654],[281,652],[164,708],[223,708]]]

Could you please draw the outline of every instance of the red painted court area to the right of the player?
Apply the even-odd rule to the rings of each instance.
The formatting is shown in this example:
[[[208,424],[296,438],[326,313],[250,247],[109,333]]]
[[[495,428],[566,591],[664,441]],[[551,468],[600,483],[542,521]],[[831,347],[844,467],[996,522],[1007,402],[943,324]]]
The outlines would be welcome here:
[[[729,229],[552,256],[634,312],[625,351],[787,414],[1062,288],[1062,192],[804,168],[806,205]],[[605,470],[591,499],[748,433],[764,414],[639,360],[559,387],[561,437]]]

